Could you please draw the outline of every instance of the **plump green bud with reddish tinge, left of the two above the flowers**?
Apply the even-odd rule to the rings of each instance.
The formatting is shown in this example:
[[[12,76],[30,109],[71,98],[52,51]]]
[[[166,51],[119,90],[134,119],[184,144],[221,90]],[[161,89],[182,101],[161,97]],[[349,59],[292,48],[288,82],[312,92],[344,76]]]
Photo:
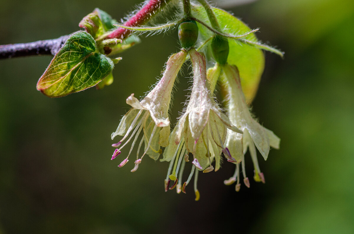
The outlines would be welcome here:
[[[195,21],[184,21],[179,24],[178,38],[183,48],[193,47],[198,39],[198,26]]]

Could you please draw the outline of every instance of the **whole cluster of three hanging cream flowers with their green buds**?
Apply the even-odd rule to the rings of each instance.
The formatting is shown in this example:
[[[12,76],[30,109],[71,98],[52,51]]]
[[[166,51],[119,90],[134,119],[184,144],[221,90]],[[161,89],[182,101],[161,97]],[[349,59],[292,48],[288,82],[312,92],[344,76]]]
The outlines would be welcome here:
[[[157,160],[162,153],[160,161],[170,162],[165,191],[176,188],[177,193],[185,193],[186,186],[194,175],[194,192],[198,200],[198,172],[219,170],[222,155],[236,167],[235,174],[224,183],[230,185],[237,181],[235,189],[239,191],[242,169],[244,184],[250,187],[245,170],[245,153],[249,149],[255,171],[254,180],[265,183],[264,175],[259,169],[256,148],[266,160],[270,147],[279,148],[280,139],[252,117],[242,92],[238,68],[227,62],[227,37],[212,37],[210,46],[215,65],[207,69],[205,54],[194,47],[198,39],[196,22],[188,20],[180,23],[178,35],[182,49],[169,57],[158,83],[142,100],[139,101],[134,94],[126,99],[126,103],[132,108],[112,133],[112,139],[117,135],[123,136],[118,143],[112,145],[117,147],[112,160],[132,141],[127,157],[118,165],[124,166],[139,142],[132,172],[138,169],[145,154]],[[187,60],[190,60],[193,68],[193,86],[186,107],[171,132],[168,116],[171,93],[179,70]],[[223,92],[227,94],[226,112],[213,94],[218,81]],[[143,143],[143,153],[140,153]],[[162,151],[161,148],[164,147]],[[189,159],[190,156],[193,156],[193,159]],[[190,161],[192,169],[188,179],[183,182],[184,168]]]

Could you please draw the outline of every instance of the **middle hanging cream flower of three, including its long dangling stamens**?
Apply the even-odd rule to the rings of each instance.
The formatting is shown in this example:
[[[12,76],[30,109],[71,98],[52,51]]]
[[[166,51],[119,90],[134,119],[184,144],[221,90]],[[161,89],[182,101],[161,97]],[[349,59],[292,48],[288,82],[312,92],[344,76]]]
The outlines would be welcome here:
[[[203,170],[203,172],[214,170],[211,165],[213,159],[216,161],[216,170],[218,170],[221,152],[227,152],[224,147],[227,129],[242,133],[230,122],[213,98],[207,81],[204,54],[196,52],[195,49],[190,49],[189,55],[193,66],[193,87],[185,112],[173,129],[169,145],[163,154],[164,158],[162,160],[171,161],[165,180],[165,191],[167,191],[170,180],[174,180],[175,182],[170,189],[177,187],[177,192],[185,192],[185,186],[192,178],[193,171],[195,171],[195,178],[197,178],[199,170]],[[185,162],[189,162],[188,153],[193,154],[193,166],[190,176],[182,188],[181,177]],[[224,154],[228,160],[236,162],[232,157],[228,157],[230,154]],[[174,160],[175,166],[172,174],[169,175]],[[179,179],[177,179],[180,167],[181,171],[178,176]],[[196,189],[196,179],[195,193],[196,198],[199,198],[199,192]]]

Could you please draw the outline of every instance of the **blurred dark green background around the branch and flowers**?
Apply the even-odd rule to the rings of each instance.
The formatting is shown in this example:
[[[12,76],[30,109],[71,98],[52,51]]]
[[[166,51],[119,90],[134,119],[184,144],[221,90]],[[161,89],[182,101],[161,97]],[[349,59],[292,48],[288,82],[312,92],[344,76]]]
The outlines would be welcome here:
[[[120,19],[134,1],[0,0],[0,44],[57,38],[79,30],[95,7]],[[125,98],[155,83],[178,50],[176,31],[142,38],[122,54],[115,81],[50,99],[36,82],[51,57],[0,60],[0,233],[353,233],[354,4],[352,0],[263,0],[228,8],[265,53],[253,102],[260,122],[281,138],[260,166],[267,183],[223,185],[233,166],[200,174],[201,199],[164,192],[168,163],[110,160],[110,134],[129,109]],[[185,73],[188,76],[188,73]],[[188,78],[180,78],[173,115]],[[249,159],[249,158],[248,158]],[[248,160],[250,162],[250,160]],[[247,174],[252,177],[251,163]]]

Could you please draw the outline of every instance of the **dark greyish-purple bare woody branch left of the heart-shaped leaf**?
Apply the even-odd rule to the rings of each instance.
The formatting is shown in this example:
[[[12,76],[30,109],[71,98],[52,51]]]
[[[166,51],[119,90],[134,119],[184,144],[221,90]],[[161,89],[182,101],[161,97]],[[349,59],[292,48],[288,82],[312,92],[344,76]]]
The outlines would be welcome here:
[[[0,45],[0,59],[30,56],[30,55],[55,55],[64,45],[68,35],[57,39]]]

